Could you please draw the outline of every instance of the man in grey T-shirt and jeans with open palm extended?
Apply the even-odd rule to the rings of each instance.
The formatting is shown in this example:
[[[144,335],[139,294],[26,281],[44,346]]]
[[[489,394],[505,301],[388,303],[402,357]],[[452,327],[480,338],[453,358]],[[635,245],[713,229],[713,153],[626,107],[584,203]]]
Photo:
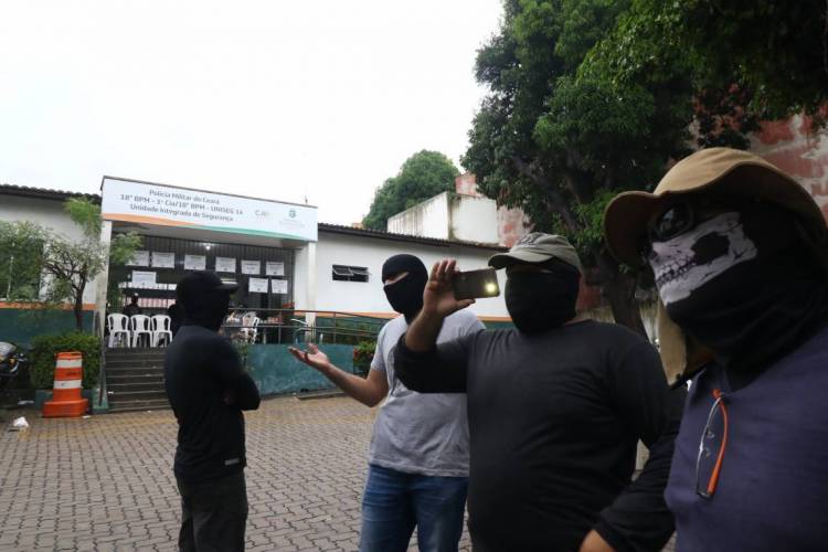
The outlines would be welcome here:
[[[413,255],[394,255],[382,265],[385,297],[403,316],[380,331],[367,378],[335,367],[315,346],[307,351],[291,349],[296,359],[367,406],[385,399],[368,458],[361,552],[404,552],[415,527],[421,551],[456,551],[463,533],[468,486],[466,397],[421,395],[394,373],[394,346],[423,308],[427,280],[425,265]],[[444,320],[437,341],[482,329],[471,312],[460,311]]]

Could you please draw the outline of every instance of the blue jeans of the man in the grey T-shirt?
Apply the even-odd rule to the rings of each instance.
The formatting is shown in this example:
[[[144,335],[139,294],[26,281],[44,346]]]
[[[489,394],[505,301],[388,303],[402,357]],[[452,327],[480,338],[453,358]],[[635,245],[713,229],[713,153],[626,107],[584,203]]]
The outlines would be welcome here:
[[[421,552],[457,552],[467,477],[405,474],[369,466],[360,552],[405,552],[417,528]]]

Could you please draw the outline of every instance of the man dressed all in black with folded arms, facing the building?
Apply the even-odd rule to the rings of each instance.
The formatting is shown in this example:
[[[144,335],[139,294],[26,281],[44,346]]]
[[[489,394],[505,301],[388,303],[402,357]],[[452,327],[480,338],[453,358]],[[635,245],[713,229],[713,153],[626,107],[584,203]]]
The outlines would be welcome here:
[[[247,492],[242,411],[258,408],[256,384],[219,336],[235,285],[190,273],[176,289],[184,320],[167,349],[164,384],[179,424],[174,473],[180,550],[244,550]]]

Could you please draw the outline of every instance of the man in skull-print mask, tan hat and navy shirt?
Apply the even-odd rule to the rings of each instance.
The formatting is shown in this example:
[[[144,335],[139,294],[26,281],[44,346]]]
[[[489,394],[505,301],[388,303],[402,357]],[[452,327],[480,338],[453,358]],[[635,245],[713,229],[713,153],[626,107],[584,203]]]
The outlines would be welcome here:
[[[607,245],[648,264],[660,343],[693,378],[667,502],[678,550],[828,548],[828,231],[808,193],[728,148],[677,163],[654,193],[626,192]]]

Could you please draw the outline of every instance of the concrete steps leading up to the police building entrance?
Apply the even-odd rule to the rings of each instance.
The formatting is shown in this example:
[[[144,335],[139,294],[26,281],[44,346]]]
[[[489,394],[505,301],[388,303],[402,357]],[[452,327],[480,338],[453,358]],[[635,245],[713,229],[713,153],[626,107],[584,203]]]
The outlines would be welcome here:
[[[169,408],[163,389],[166,349],[108,349],[106,392],[109,412]]]

